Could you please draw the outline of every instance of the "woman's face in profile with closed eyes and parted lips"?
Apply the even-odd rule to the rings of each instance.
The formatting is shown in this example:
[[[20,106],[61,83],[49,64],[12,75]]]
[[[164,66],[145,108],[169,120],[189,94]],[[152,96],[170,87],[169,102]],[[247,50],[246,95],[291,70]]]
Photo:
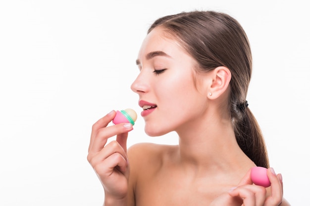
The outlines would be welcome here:
[[[178,41],[155,28],[142,43],[137,65],[140,74],[131,89],[139,94],[148,135],[159,136],[199,123],[206,111],[207,91],[203,81],[195,81],[201,79],[194,69],[197,62]]]

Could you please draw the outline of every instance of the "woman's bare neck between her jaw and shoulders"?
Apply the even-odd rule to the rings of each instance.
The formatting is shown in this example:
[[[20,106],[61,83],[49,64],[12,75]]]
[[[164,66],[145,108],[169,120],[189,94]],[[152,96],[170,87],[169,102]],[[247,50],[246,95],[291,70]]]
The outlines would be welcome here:
[[[253,164],[240,149],[228,119],[204,118],[203,123],[192,122],[177,133],[180,163],[185,167],[218,172]]]

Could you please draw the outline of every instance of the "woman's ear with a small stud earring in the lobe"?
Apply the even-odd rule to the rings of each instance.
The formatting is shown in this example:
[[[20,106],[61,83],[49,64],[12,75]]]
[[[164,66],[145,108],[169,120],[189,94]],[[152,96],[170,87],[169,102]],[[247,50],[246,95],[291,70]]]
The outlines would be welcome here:
[[[220,66],[211,72],[212,83],[208,89],[208,98],[216,99],[228,88],[231,80],[231,72],[227,67]]]

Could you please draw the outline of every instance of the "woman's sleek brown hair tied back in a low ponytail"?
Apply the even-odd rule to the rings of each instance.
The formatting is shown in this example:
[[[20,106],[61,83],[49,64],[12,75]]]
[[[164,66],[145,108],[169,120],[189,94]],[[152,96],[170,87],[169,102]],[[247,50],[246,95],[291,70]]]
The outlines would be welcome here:
[[[229,110],[237,142],[256,165],[269,167],[261,130],[247,108],[252,54],[241,25],[225,13],[192,11],[161,17],[151,25],[148,33],[157,26],[180,41],[200,69],[210,71],[225,66],[230,70]]]

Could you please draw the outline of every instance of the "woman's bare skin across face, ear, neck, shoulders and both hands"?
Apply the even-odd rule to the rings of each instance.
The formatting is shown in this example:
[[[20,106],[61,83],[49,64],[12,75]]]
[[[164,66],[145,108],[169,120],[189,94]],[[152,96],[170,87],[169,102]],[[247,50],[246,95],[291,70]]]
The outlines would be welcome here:
[[[107,126],[115,111],[95,123],[88,161],[105,206],[289,206],[272,168],[269,188],[251,181],[256,165],[238,146],[226,106],[229,69],[198,73],[196,61],[160,27],[146,37],[137,64],[131,88],[157,106],[144,117],[146,133],[176,131],[179,145],[140,143],[127,151],[131,124]]]

